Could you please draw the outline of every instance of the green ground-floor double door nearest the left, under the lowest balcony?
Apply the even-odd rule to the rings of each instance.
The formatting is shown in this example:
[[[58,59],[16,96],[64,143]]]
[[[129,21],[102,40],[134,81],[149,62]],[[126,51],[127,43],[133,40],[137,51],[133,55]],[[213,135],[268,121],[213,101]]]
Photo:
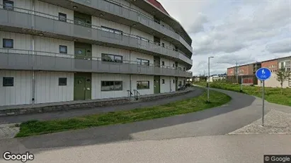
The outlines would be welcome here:
[[[91,99],[91,73],[74,74],[74,100]]]

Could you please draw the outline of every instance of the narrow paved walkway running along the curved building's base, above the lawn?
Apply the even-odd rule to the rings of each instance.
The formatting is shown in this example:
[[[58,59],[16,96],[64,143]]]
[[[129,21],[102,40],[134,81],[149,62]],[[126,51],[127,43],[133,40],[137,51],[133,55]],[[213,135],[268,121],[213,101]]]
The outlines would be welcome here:
[[[137,109],[142,107],[151,107],[161,104],[169,104],[170,102],[176,102],[182,99],[188,99],[190,97],[196,97],[198,95],[202,95],[204,90],[198,87],[190,87],[193,91],[188,92],[184,95],[177,95],[173,97],[166,97],[164,99],[152,100],[149,102],[134,102],[130,104],[120,104],[116,106],[107,106],[107,107],[96,107],[96,108],[84,108],[84,109],[74,109],[68,111],[56,111],[50,113],[42,113],[42,114],[27,114],[27,115],[17,115],[17,116],[1,116],[0,123],[20,123],[28,120],[39,120],[45,121],[50,119],[64,119],[64,118],[72,118],[76,116],[85,116],[89,114],[98,114],[110,111],[122,111],[122,110],[130,110]]]

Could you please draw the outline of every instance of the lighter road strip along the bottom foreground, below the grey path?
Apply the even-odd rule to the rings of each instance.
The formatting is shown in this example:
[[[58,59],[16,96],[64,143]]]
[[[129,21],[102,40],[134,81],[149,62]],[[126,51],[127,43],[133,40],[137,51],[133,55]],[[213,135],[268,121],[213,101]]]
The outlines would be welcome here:
[[[263,155],[290,155],[291,135],[216,135],[32,150],[31,163],[52,162],[263,162]],[[1,159],[0,159],[1,162]],[[3,161],[3,163],[5,163]]]

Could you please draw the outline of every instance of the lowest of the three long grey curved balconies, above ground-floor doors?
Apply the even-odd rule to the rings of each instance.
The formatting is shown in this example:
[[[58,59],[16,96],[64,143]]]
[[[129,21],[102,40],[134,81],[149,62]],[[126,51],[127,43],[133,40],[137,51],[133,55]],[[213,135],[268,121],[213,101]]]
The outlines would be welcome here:
[[[108,62],[98,57],[80,59],[72,54],[0,49],[0,69],[27,71],[69,71],[88,73],[125,73],[149,76],[192,78],[192,72],[169,66],[140,65],[137,61]]]

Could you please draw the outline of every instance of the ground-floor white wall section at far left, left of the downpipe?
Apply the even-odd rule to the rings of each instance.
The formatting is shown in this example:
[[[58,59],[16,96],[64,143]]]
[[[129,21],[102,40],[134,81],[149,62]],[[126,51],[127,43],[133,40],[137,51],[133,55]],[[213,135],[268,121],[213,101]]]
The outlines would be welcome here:
[[[13,77],[13,87],[3,87],[3,77]],[[31,71],[0,70],[0,106],[30,104],[32,90]]]

